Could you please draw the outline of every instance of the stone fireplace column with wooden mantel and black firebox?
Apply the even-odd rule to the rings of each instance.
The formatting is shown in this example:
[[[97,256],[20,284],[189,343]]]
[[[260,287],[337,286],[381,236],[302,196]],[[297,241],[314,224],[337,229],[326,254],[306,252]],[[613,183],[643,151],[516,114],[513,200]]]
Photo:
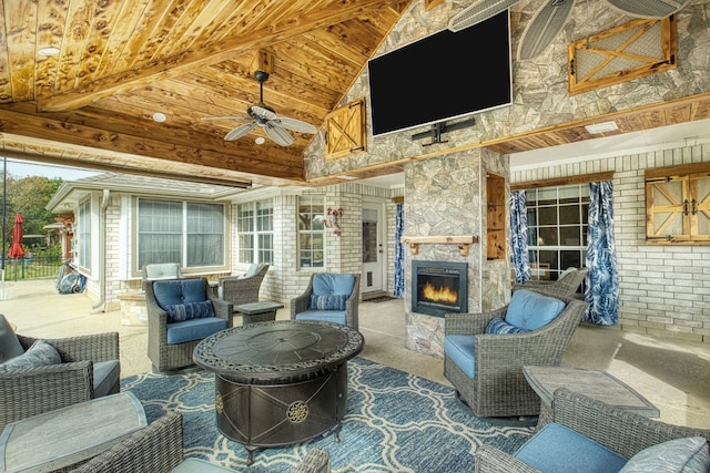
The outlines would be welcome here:
[[[450,153],[405,165],[405,347],[444,357],[445,313],[480,312],[501,307],[510,298],[508,261],[486,254],[488,173],[504,177],[507,189],[508,161],[486,148]],[[500,185],[500,184],[499,184]],[[507,225],[506,225],[507,227]],[[462,238],[473,237],[462,244]],[[412,245],[412,243],[416,243]],[[505,244],[504,244],[505,248]],[[452,266],[432,270],[440,263]],[[422,299],[425,282],[417,281],[415,267],[442,286],[457,287],[456,304]],[[454,282],[452,268],[462,268]],[[437,273],[438,271],[438,273]],[[462,288],[460,285],[464,285]],[[450,307],[449,307],[450,306]]]

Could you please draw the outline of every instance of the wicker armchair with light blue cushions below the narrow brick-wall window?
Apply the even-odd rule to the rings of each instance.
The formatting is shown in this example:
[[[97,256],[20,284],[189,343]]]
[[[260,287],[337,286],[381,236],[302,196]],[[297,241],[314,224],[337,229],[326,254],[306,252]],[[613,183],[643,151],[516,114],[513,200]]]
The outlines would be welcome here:
[[[349,296],[345,300],[344,310],[314,310],[311,307],[311,296],[314,295],[314,286],[316,287],[316,294],[321,286],[326,286],[333,282],[333,278],[341,279],[343,277],[351,277],[353,280],[352,289],[349,289]],[[325,281],[325,282],[324,282]],[[314,285],[315,282],[315,285]],[[343,280],[335,281],[335,285],[343,282]],[[324,289],[324,294],[328,294]],[[359,275],[357,274],[334,274],[334,273],[314,273],[311,275],[308,286],[303,294],[294,299],[291,299],[291,318],[301,320],[324,320],[336,321],[342,319],[344,325],[357,330],[358,327],[358,309],[359,309]]]

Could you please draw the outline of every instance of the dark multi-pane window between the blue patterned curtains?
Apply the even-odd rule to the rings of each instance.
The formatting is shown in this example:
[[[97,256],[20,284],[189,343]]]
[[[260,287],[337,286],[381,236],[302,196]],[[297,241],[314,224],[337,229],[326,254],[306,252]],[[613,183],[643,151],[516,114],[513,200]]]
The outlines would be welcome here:
[[[556,280],[587,254],[589,184],[526,191],[531,279]]]

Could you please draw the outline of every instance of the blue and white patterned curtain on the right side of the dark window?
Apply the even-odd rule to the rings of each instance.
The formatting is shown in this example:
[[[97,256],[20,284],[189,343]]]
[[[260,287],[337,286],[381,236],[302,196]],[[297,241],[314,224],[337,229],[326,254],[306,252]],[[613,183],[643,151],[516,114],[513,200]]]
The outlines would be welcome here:
[[[585,300],[589,310],[584,320],[613,326],[619,318],[619,275],[613,237],[613,185],[589,184],[589,227],[587,261],[589,268]]]

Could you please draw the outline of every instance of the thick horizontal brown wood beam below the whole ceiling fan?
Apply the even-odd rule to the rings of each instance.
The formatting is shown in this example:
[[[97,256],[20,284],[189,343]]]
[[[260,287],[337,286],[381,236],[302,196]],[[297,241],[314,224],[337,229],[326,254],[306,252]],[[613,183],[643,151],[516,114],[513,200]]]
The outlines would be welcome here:
[[[98,148],[113,153],[164,160],[169,163],[207,166],[215,169],[266,176],[277,179],[303,181],[303,163],[278,164],[256,160],[248,148],[239,146],[213,150],[165,140],[166,134],[139,136],[115,130],[102,130],[70,122],[53,114],[30,112],[28,104],[0,107],[0,133],[53,141],[63,145]],[[162,138],[161,138],[162,137]],[[155,166],[160,169],[160,166]]]

